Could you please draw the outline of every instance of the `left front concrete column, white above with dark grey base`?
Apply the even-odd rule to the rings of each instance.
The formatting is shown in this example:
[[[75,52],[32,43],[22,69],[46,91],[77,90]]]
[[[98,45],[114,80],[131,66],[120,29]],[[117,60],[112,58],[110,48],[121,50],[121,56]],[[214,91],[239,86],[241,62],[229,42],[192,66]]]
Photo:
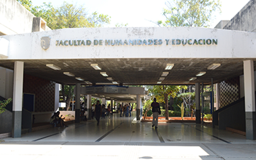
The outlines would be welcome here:
[[[14,90],[12,105],[12,137],[21,137],[24,62],[14,62]]]

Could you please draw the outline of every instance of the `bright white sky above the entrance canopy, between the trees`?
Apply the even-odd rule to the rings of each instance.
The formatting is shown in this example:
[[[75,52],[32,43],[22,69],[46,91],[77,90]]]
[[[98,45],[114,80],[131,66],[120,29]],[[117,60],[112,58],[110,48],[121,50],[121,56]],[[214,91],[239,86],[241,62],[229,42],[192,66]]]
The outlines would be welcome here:
[[[76,5],[83,5],[87,13],[97,11],[99,14],[107,14],[111,17],[110,25],[115,27],[117,23],[126,24],[127,27],[156,27],[153,22],[165,20],[162,16],[163,8],[167,0],[31,0],[33,6],[43,5],[43,2],[51,2],[53,7],[59,7],[64,1]],[[230,20],[244,7],[249,0],[220,0],[222,13],[215,12],[215,19],[210,23],[214,28],[221,20]],[[152,22],[153,21],[153,22]]]

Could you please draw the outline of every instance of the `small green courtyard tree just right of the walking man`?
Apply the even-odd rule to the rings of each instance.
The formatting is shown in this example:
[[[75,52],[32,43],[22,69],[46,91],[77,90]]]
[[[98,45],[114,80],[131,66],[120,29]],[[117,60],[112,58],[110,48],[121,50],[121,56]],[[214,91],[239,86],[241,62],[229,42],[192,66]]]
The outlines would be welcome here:
[[[181,89],[187,89],[187,86],[172,86],[172,85],[155,85],[149,87],[149,93],[154,96],[159,103],[165,103],[165,119],[169,119],[168,113],[168,97],[177,96],[177,92]]]

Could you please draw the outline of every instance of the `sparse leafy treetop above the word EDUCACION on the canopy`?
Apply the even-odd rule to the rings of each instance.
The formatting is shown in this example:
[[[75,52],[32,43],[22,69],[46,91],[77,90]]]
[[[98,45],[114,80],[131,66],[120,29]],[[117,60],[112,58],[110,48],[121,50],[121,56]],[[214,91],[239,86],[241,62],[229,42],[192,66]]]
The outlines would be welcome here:
[[[156,24],[165,27],[208,27],[213,13],[219,11],[220,0],[171,0],[162,14],[166,20]]]

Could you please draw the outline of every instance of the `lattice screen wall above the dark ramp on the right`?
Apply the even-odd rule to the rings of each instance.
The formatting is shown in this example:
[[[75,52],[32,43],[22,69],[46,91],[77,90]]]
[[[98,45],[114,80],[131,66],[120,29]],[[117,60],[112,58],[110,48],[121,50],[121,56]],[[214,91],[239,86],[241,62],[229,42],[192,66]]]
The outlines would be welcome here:
[[[239,84],[239,77],[220,82],[220,107],[225,107],[239,99]]]

